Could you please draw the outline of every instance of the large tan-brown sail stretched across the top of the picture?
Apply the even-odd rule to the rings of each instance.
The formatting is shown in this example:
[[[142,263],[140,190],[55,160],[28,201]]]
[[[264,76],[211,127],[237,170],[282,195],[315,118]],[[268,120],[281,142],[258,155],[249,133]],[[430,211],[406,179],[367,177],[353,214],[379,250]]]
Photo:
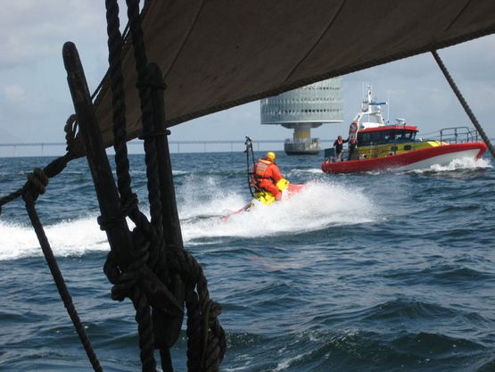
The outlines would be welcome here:
[[[149,62],[163,71],[170,126],[495,31],[493,0],[150,0]],[[103,37],[103,36],[102,36]],[[132,49],[123,61],[128,138],[141,131]],[[111,145],[111,92],[96,102]],[[81,155],[80,142],[73,153]]]

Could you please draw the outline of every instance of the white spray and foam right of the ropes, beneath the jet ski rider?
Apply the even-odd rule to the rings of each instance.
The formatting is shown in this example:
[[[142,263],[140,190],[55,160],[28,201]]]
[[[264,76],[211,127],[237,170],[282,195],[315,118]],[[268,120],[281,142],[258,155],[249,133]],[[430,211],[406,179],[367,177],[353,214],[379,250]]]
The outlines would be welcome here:
[[[238,196],[233,196],[211,200],[206,208],[213,208],[215,203],[225,208],[228,203],[238,199]],[[228,205],[227,209],[235,211],[242,206],[243,203],[237,203]],[[202,210],[205,206],[199,204],[195,208]],[[182,233],[185,242],[203,237],[299,234],[329,226],[370,222],[376,219],[375,215],[373,203],[359,187],[314,181],[282,203],[265,206],[256,202],[251,211],[232,215],[227,221],[185,221],[182,223]]]

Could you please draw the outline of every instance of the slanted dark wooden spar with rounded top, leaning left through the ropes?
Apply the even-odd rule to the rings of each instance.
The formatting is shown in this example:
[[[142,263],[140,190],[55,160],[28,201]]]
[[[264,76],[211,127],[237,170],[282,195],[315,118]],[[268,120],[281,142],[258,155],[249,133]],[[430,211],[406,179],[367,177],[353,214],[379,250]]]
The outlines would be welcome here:
[[[70,95],[78,117],[79,131],[86,146],[87,162],[95,184],[102,219],[105,221],[106,235],[120,270],[125,271],[128,265],[133,263],[132,236],[125,215],[120,213],[119,194],[111,174],[110,163],[105,153],[102,134],[95,117],[76,45],[65,43],[62,55],[65,70],[67,70]],[[183,315],[181,303],[177,302],[175,296],[147,266],[144,266],[142,270],[139,285],[153,307],[171,316],[181,317]]]

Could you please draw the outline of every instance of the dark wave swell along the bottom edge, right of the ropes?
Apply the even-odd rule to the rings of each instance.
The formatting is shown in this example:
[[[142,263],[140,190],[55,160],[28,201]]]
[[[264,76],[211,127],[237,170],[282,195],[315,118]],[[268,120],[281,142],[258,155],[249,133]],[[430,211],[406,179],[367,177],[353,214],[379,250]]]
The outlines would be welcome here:
[[[478,370],[471,360],[486,352],[482,345],[448,335],[427,332],[376,333],[347,327],[309,330],[285,337],[229,334],[234,341],[226,371],[402,371]],[[259,356],[243,354],[243,347],[257,350]],[[482,363],[490,365],[491,361]],[[478,366],[479,367],[479,366]]]

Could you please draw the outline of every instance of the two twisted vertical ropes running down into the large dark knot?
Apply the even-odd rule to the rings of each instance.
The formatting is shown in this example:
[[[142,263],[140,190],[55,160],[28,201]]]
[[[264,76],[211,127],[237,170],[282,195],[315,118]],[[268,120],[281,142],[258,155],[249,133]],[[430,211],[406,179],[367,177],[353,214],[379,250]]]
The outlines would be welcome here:
[[[115,136],[115,152],[118,172],[119,191],[122,202],[125,204],[125,199],[132,194],[130,187],[130,176],[128,175],[128,153],[125,144],[126,140],[126,120],[124,117],[124,92],[123,78],[120,68],[120,50],[122,49],[122,38],[119,32],[119,8],[115,0],[107,0],[107,21],[109,35],[109,62],[111,75],[112,103],[113,103],[113,120],[114,120],[114,136]],[[164,236],[163,236],[163,220],[162,220],[162,205],[161,205],[161,189],[160,179],[158,176],[159,165],[157,160],[157,144],[153,123],[153,101],[151,95],[151,87],[156,84],[151,79],[150,70],[148,70],[147,59],[144,50],[143,30],[141,28],[141,17],[139,15],[138,2],[127,0],[128,4],[128,20],[129,29],[131,32],[132,43],[134,46],[136,71],[138,77],[137,87],[139,89],[139,97],[141,101],[141,111],[143,115],[143,132],[144,152],[146,163],[146,175],[148,178],[148,199],[150,203],[150,212],[152,216],[151,224],[147,225],[147,221],[140,216],[137,216],[139,224],[136,223],[134,235],[139,233],[140,227],[143,228],[141,240],[153,240],[151,246],[147,244],[148,251],[153,252],[153,248],[158,248],[158,256],[161,264],[156,269],[161,269],[160,277],[163,277],[163,271],[169,270],[169,265],[166,265],[164,259]],[[125,148],[125,150],[124,150]],[[137,211],[137,209],[136,209]],[[122,211],[120,211],[122,212]],[[133,216],[136,218],[138,213]],[[133,218],[131,217],[131,219]],[[105,221],[108,222],[108,221]],[[142,223],[142,225],[141,225]],[[144,242],[135,246],[143,246]],[[220,307],[217,303],[210,300],[210,295],[207,289],[206,278],[202,273],[202,269],[194,258],[184,251],[182,247],[171,247],[167,251],[170,255],[178,254],[180,258],[176,260],[181,263],[174,269],[180,272],[180,277],[187,283],[186,289],[186,307],[187,307],[187,334],[188,334],[188,366],[190,371],[217,371],[219,370],[219,361],[225,353],[225,333],[219,326],[218,315]],[[180,248],[180,249],[177,249]],[[175,253],[173,253],[175,252]],[[136,260],[136,265],[133,263],[132,268],[128,268],[125,273],[120,273],[116,264],[112,262],[111,254],[105,263],[105,273],[109,277],[111,283],[115,285],[112,288],[112,298],[122,300],[125,296],[131,297],[136,307],[137,314],[145,314],[148,318],[149,311],[145,310],[143,305],[140,305],[142,299],[136,282],[139,277],[138,267],[145,265],[143,258]],[[139,262],[139,263],[137,263]],[[180,267],[180,269],[178,269]],[[169,277],[167,275],[166,277]],[[162,278],[163,280],[163,278]],[[166,278],[165,278],[165,281]],[[197,291],[197,292],[196,292]],[[150,319],[151,323],[151,319]],[[141,324],[141,323],[140,323]],[[144,332],[150,328],[145,328]],[[143,338],[140,329],[140,337]],[[151,335],[153,340],[153,335]],[[147,349],[144,343],[142,351]],[[149,345],[149,343],[147,344]],[[162,368],[165,371],[172,371],[171,360],[168,350],[161,350]],[[154,366],[153,366],[154,368]]]

